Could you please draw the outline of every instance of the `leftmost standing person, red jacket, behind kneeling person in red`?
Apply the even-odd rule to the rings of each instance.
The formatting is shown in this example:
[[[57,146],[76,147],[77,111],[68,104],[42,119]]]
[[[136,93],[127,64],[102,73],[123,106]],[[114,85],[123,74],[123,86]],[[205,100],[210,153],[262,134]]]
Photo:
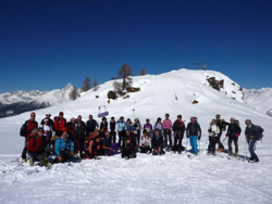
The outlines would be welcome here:
[[[26,153],[27,153],[27,137],[32,133],[32,131],[36,128],[38,128],[38,123],[35,120],[36,114],[33,112],[30,114],[30,119],[26,120],[24,123],[24,129],[25,129],[25,146],[22,152],[22,162],[26,162]]]

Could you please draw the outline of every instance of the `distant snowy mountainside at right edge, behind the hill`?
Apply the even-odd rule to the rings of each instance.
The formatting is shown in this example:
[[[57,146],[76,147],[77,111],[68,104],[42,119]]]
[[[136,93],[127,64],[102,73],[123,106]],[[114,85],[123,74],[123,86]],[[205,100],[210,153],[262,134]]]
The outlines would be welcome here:
[[[261,113],[272,116],[272,88],[245,90],[244,101]]]

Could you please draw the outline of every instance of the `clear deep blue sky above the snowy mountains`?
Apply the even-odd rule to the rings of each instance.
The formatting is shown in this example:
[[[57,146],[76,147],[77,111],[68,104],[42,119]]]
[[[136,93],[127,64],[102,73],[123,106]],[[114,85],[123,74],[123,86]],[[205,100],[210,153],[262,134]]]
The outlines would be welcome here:
[[[271,0],[1,0],[0,92],[99,82],[122,64],[160,74],[206,62],[272,87]]]

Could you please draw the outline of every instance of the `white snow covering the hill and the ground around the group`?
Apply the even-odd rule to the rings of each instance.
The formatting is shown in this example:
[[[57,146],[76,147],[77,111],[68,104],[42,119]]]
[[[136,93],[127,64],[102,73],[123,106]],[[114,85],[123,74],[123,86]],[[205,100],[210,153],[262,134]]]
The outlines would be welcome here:
[[[185,153],[162,156],[138,153],[137,158],[129,161],[115,155],[57,164],[50,169],[29,167],[27,163],[16,167],[15,158],[24,145],[18,130],[29,117],[29,113],[24,113],[0,119],[0,203],[271,203],[272,118],[207,86],[207,75],[228,79],[218,72],[187,69],[133,77],[134,87],[140,87],[140,91],[128,93],[125,100],[111,100],[110,104],[107,93],[113,81],[108,81],[76,101],[36,111],[37,120],[48,112],[58,115],[60,111],[67,119],[81,114],[87,120],[89,114],[96,117],[99,105],[107,105],[108,119],[123,115],[139,117],[141,124],[146,118],[154,124],[157,117],[163,118],[165,113],[170,113],[172,120],[182,114],[186,124],[190,116],[197,116],[202,128],[200,150],[203,150],[209,123],[220,113],[226,120],[233,116],[239,119],[243,129],[239,153],[249,155],[244,120],[250,118],[264,128],[263,141],[257,143],[260,163],[249,164],[227,160],[224,153],[211,156],[200,151],[200,155],[193,158]],[[199,103],[191,104],[194,100]]]

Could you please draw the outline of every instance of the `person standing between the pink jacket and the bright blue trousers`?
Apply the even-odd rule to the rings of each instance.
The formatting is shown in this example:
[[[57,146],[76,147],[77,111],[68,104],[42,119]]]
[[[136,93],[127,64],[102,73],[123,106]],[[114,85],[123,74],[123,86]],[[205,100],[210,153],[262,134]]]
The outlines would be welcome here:
[[[177,115],[177,119],[173,124],[173,130],[174,130],[174,148],[173,151],[181,153],[182,150],[184,150],[182,141],[184,137],[185,131],[185,125],[182,120],[182,115]]]

